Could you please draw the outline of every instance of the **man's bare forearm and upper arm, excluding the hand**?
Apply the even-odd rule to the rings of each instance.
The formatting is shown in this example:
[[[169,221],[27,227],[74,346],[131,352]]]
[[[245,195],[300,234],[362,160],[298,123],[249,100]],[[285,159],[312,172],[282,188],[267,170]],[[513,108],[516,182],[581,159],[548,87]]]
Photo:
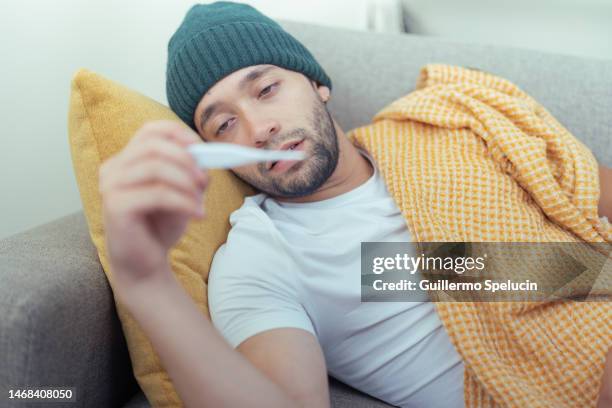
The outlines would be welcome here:
[[[237,352],[169,273],[118,293],[187,407],[328,407],[327,372],[315,337],[273,329]]]

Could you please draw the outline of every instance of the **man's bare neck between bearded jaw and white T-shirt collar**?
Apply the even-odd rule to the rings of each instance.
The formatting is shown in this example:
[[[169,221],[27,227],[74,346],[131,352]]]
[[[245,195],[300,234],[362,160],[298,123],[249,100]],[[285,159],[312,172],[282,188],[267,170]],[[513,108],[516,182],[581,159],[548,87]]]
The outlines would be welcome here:
[[[279,201],[310,203],[326,200],[351,191],[365,183],[374,172],[369,160],[350,142],[344,131],[336,126],[338,135],[338,164],[332,175],[314,193],[298,198],[282,198]]]

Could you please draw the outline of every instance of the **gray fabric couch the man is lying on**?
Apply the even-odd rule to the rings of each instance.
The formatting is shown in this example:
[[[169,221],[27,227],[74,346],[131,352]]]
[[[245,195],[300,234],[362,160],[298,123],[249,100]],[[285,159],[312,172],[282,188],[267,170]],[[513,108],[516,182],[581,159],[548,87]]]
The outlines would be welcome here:
[[[328,71],[330,109],[345,130],[412,90],[423,64],[451,63],[514,81],[612,165],[612,61],[282,24]],[[34,385],[76,387],[73,407],[149,406],[81,213],[0,241],[0,406],[11,406],[7,387]],[[330,387],[334,407],[388,406],[333,379]]]

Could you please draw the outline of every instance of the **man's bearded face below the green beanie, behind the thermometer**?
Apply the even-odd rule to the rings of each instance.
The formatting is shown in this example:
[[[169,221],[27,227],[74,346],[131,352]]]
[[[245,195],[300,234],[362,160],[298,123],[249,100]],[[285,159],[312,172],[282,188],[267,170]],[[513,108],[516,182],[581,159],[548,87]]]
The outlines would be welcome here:
[[[328,96],[327,87],[316,88],[300,73],[254,65],[217,82],[200,100],[194,122],[207,142],[304,151],[302,161],[232,169],[272,196],[303,197],[323,185],[338,163],[336,129],[322,100]]]

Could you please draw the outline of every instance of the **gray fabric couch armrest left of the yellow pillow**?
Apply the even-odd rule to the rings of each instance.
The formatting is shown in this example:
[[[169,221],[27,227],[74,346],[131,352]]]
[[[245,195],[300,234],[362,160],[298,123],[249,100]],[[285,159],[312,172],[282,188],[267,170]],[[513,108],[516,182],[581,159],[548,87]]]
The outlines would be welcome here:
[[[0,240],[0,405],[6,388],[76,387],[120,406],[137,389],[113,295],[82,213]]]

